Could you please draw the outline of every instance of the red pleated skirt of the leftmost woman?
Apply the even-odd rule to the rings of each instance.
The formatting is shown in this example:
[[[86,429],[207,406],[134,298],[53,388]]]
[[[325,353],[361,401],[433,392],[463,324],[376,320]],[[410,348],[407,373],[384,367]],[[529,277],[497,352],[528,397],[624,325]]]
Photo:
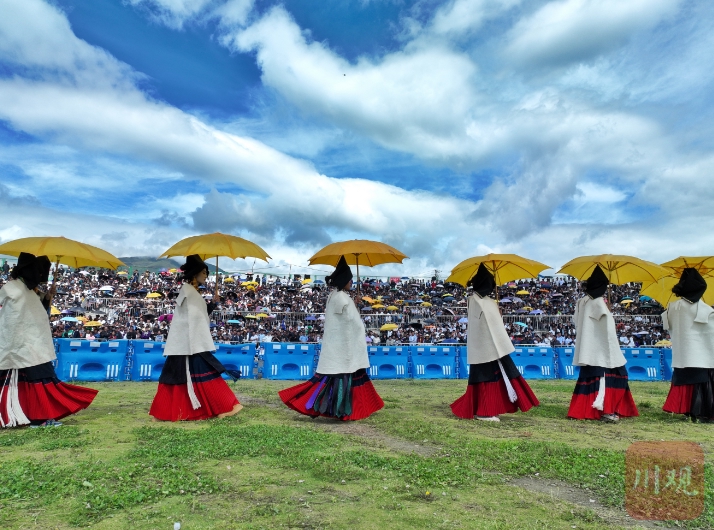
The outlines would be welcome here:
[[[49,363],[48,363],[49,364]],[[51,370],[54,374],[54,369]],[[10,393],[8,374],[10,370],[0,370],[0,415],[8,423],[7,402]],[[93,388],[63,383],[57,377],[28,380],[23,369],[19,369],[17,394],[20,408],[28,420],[42,422],[60,420],[82,409],[86,409],[99,391]]]

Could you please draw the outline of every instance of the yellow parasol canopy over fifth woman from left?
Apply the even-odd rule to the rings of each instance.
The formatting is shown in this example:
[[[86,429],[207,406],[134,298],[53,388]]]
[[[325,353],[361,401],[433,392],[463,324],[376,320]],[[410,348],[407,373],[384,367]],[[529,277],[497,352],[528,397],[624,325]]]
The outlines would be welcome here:
[[[618,285],[628,282],[656,282],[669,272],[651,261],[615,254],[580,256],[563,265],[558,272],[586,280],[597,265],[600,265],[610,283]]]

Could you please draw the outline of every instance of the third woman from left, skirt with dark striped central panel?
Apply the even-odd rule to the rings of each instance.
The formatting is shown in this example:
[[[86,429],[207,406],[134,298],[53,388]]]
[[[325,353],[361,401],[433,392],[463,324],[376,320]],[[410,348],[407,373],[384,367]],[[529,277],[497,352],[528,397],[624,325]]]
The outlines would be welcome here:
[[[315,375],[278,394],[288,407],[313,418],[362,420],[381,409],[384,402],[367,374],[364,323],[348,294],[352,271],[344,256],[325,280],[335,289],[325,306],[325,332]]]

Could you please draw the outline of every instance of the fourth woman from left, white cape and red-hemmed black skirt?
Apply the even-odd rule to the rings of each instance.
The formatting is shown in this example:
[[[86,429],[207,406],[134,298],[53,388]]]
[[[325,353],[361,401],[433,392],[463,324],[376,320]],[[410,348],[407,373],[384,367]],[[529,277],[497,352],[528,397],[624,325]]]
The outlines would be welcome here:
[[[469,382],[451,410],[468,420],[501,421],[499,414],[526,412],[540,403],[511,359],[513,343],[489,297],[496,287],[493,274],[482,263],[469,285],[474,290],[468,299]]]

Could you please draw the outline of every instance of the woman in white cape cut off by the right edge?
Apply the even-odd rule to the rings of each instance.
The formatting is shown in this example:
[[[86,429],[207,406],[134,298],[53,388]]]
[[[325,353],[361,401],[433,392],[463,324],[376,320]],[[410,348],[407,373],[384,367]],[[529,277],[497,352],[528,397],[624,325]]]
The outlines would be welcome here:
[[[674,369],[662,410],[708,422],[714,420],[714,309],[701,300],[706,290],[696,269],[684,269],[672,288],[681,299],[662,313],[672,337]]]

